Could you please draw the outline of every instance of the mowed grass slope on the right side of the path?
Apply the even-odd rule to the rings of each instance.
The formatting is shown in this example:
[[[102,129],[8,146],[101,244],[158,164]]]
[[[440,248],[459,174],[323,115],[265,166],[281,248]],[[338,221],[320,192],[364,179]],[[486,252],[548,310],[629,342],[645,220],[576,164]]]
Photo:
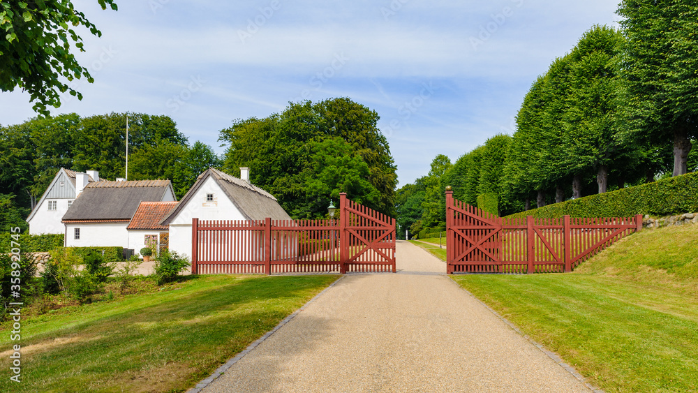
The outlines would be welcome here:
[[[698,225],[643,230],[570,274],[454,280],[606,392],[698,390]]]

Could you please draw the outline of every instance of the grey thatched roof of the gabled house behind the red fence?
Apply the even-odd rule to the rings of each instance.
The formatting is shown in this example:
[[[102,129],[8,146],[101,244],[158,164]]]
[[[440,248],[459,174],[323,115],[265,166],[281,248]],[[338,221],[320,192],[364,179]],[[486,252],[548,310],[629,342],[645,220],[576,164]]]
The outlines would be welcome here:
[[[170,214],[163,218],[164,225],[169,224],[174,217],[184,209],[188,200],[196,193],[198,188],[204,183],[208,177],[213,177],[221,186],[228,199],[237,207],[237,209],[248,220],[263,220],[272,218],[273,220],[290,220],[290,216],[276,201],[274,195],[267,193],[258,186],[249,184],[247,181],[232,177],[220,170],[209,168],[196,179],[196,183],[187,191],[184,198],[181,198],[177,207]]]

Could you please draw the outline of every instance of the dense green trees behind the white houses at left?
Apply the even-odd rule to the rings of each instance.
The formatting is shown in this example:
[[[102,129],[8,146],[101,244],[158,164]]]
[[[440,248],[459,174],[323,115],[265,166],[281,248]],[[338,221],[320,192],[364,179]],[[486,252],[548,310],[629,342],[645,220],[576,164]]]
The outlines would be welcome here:
[[[111,113],[91,117],[61,114],[0,126],[0,200],[27,216],[59,168],[98,170],[100,177],[171,179],[181,198],[196,177],[221,161],[211,147],[177,131],[167,116]],[[9,213],[7,213],[9,214]]]

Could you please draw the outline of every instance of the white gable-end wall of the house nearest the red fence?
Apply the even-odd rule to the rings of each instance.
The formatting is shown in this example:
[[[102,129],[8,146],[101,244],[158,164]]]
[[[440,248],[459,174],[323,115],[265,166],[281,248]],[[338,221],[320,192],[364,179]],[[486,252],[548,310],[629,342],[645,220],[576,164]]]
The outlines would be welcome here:
[[[207,202],[206,195],[214,194],[214,201]],[[191,220],[244,220],[245,217],[228,199],[228,195],[212,177],[208,177],[192,198],[170,223],[170,250],[191,258]]]

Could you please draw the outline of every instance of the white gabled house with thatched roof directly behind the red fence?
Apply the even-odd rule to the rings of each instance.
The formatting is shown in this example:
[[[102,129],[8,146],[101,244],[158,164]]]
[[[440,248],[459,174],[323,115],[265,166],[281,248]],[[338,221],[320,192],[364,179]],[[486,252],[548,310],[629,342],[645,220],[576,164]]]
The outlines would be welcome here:
[[[200,220],[290,220],[273,195],[250,183],[248,168],[240,168],[242,179],[209,168],[163,218],[170,227],[170,250],[191,256],[191,221]]]

